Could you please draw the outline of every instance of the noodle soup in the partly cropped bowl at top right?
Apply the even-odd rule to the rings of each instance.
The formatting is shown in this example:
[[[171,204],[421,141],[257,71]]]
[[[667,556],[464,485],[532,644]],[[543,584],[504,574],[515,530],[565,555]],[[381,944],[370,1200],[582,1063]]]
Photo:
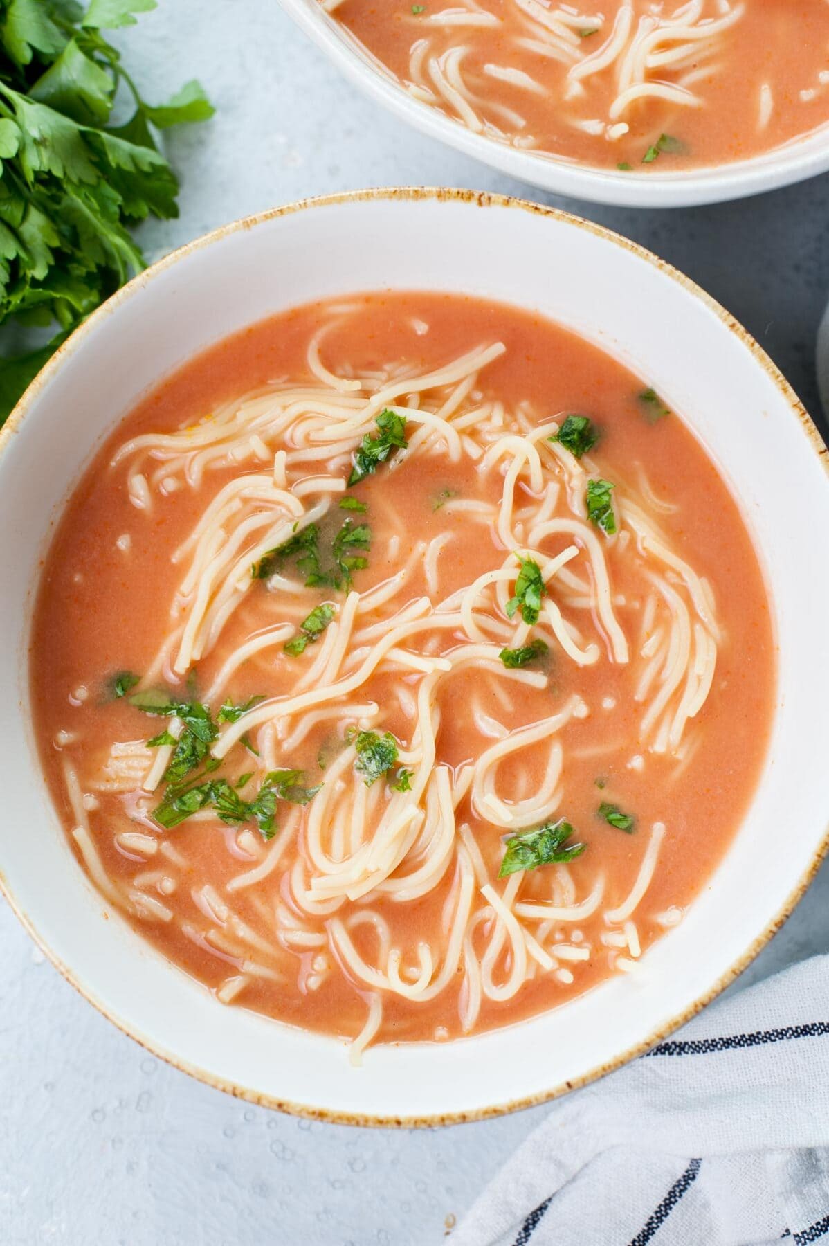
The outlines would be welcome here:
[[[415,98],[585,164],[721,164],[829,121],[817,0],[321,2]]]

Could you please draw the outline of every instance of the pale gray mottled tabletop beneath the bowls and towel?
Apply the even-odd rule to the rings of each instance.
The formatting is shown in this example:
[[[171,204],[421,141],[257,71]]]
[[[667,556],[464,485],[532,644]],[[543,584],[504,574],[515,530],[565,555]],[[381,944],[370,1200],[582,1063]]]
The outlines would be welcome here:
[[[330,191],[442,183],[541,197],[380,113],[275,0],[161,0],[122,42],[149,97],[198,75],[218,108],[209,125],[169,138],[182,214],[144,228],[153,257],[234,217]],[[671,213],[548,202],[693,277],[761,340],[814,414],[829,177]],[[119,1034],[5,907],[0,937],[0,1241],[9,1246],[427,1246],[544,1113],[372,1131],[249,1108]],[[824,870],[741,981],[828,946]]]

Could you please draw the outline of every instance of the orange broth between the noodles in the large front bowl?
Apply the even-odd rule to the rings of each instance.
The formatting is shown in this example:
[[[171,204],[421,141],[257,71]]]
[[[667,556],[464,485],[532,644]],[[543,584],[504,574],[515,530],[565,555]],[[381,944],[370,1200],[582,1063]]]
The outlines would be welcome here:
[[[368,10],[349,4],[349,10]],[[149,668],[167,627],[168,609],[180,578],[171,563],[172,551],[193,528],[208,501],[234,471],[207,472],[200,488],[178,490],[158,498],[152,513],[131,502],[126,467],[111,466],[117,447],[141,432],[173,431],[195,424],[218,402],[265,385],[274,378],[306,378],[309,339],[325,315],[324,305],[309,305],[255,324],[204,354],[189,360],[157,385],[107,439],[95,456],[57,526],[45,562],[31,637],[31,704],[44,770],[61,821],[67,831],[75,817],[63,785],[62,765],[72,759],[81,785],[85,768],[113,740],[146,739],[161,731],[164,720],[147,718],[127,703],[105,693],[115,672],[141,674]],[[418,333],[415,325],[418,324]],[[422,333],[427,325],[428,331]],[[675,414],[650,424],[637,395],[645,383],[596,346],[575,334],[517,308],[459,295],[411,293],[367,295],[344,326],[335,325],[325,340],[327,366],[349,365],[357,375],[388,360],[405,359],[418,368],[433,368],[499,339],[505,354],[489,364],[480,385],[508,405],[522,401],[553,417],[560,412],[589,414],[602,430],[596,459],[606,478],[635,480],[645,471],[655,495],[670,500],[676,511],[660,516],[662,531],[673,548],[707,577],[717,603],[722,640],[710,697],[695,720],[696,751],[683,765],[649,754],[641,770],[631,769],[640,754],[639,708],[631,697],[631,674],[624,665],[604,659],[579,668],[558,652],[551,653],[550,685],[518,687],[512,709],[504,709],[485,680],[473,669],[447,680],[441,693],[439,760],[452,768],[473,758],[492,741],[483,741],[469,718],[474,697],[483,697],[488,713],[508,730],[555,711],[578,692],[591,706],[584,720],[571,720],[561,733],[565,769],[560,812],[575,827],[588,850],[566,868],[576,892],[584,896],[600,868],[610,900],[619,902],[636,877],[647,826],[665,822],[667,832],[658,867],[637,911],[642,949],[658,937],[663,925],[657,915],[680,912],[693,902],[717,868],[741,825],[758,781],[772,718],[774,695],[774,640],[763,576],[739,506],[690,429]],[[692,412],[691,412],[692,414]],[[238,473],[238,470],[237,472]],[[385,522],[397,522],[406,532],[397,562],[406,561],[416,540],[431,541],[447,530],[452,538],[438,558],[441,596],[468,584],[504,558],[492,528],[474,525],[456,513],[447,518],[438,502],[444,491],[464,498],[487,497],[489,486],[468,460],[449,464],[442,455],[412,459],[391,473],[382,467],[361,486],[358,496],[368,510],[365,518],[375,533],[368,567],[355,573],[365,592],[393,569],[383,556]],[[436,501],[437,500],[437,501]],[[437,507],[437,508],[436,508]],[[363,516],[357,516],[363,518]],[[131,536],[127,551],[117,545]],[[607,545],[607,566],[619,593],[630,601],[620,608],[622,627],[635,632],[637,587],[629,582],[624,551]],[[427,592],[422,568],[416,568],[408,588],[412,598]],[[316,599],[322,599],[324,593]],[[331,596],[326,599],[331,599]],[[639,603],[641,612],[641,602]],[[259,586],[246,599],[217,648],[198,664],[197,688],[208,687],[229,648],[279,617],[279,596]],[[309,662],[311,649],[289,659],[268,650],[263,659],[241,667],[232,683],[234,701],[251,695],[290,690],[291,680]],[[391,684],[400,677],[380,673],[370,695],[381,705],[378,730],[388,730],[406,743],[407,721],[397,711]],[[415,682],[415,677],[403,677]],[[78,699],[77,689],[86,689]],[[179,692],[183,693],[183,684]],[[610,698],[612,708],[602,708]],[[610,701],[607,701],[610,705]],[[61,736],[60,733],[67,733]],[[311,731],[297,754],[285,765],[304,768],[309,782],[324,781],[317,755],[331,744],[330,729]],[[68,739],[68,743],[60,743]],[[592,753],[591,753],[592,750]],[[243,753],[243,750],[239,750]],[[586,755],[578,755],[585,753]],[[248,759],[251,760],[251,759]],[[514,759],[507,785],[520,785],[527,775],[543,770],[543,755],[528,749]],[[234,774],[245,758],[233,754]],[[316,778],[314,778],[316,776]],[[534,780],[533,780],[534,781]],[[597,787],[596,784],[602,786]],[[532,786],[532,782],[530,782]],[[132,796],[98,792],[98,807],[90,814],[95,845],[107,875],[124,885],[148,862],[122,851],[115,832],[133,827]],[[596,816],[601,800],[619,804],[636,817],[636,831],[624,834]],[[307,816],[307,806],[302,817]],[[503,851],[503,832],[475,816],[468,800],[458,819],[469,822],[482,856],[494,872]],[[234,958],[193,941],[180,922],[198,922],[203,912],[194,898],[197,885],[208,881],[219,892],[249,863],[238,846],[238,827],[190,824],[161,831],[152,821],[143,829],[171,840],[187,860],[177,890],[163,897],[173,911],[168,922],[133,925],[159,952],[208,988],[217,988],[233,968]],[[278,832],[279,834],[279,832]],[[296,851],[288,850],[286,861]],[[149,862],[157,863],[156,860]],[[523,898],[549,898],[545,868],[527,873]],[[423,932],[439,931],[452,873],[422,900],[403,906],[380,898],[376,908],[393,925],[396,938],[413,946]],[[234,895],[237,912],[261,930],[261,913],[279,898],[290,903],[285,878],[275,871],[261,883]],[[259,908],[256,908],[259,905]],[[580,936],[599,951],[579,966],[570,984],[538,974],[508,1003],[483,1001],[475,1029],[520,1020],[560,1004],[595,986],[611,972],[612,953],[601,949],[601,915],[580,925]],[[568,931],[568,934],[570,931]],[[357,932],[356,942],[371,954],[371,937]],[[283,981],[255,979],[238,1003],[294,1024],[354,1037],[363,1024],[366,992],[351,981],[342,964],[316,991],[307,988],[311,952],[285,953]],[[428,1003],[392,996],[385,1002],[381,1040],[457,1037],[458,991],[451,983]]]

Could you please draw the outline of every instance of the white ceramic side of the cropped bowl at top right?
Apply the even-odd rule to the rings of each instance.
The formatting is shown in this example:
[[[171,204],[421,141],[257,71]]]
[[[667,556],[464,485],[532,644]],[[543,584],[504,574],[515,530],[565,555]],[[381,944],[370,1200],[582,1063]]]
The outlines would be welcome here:
[[[759,194],[829,169],[829,125],[752,159],[676,173],[656,168],[646,173],[622,173],[575,164],[543,152],[520,151],[475,135],[459,121],[411,96],[375,56],[325,12],[320,0],[280,0],[280,4],[355,86],[402,121],[502,173],[554,194],[631,208],[686,208]]]

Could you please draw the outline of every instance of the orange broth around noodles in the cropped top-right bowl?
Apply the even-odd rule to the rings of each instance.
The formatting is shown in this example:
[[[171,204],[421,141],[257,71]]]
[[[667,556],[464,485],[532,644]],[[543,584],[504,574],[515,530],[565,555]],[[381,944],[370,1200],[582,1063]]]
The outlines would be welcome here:
[[[609,110],[617,93],[612,69],[585,78],[585,92],[569,96],[570,60],[539,50],[543,27],[532,24],[517,0],[463,0],[463,6],[493,15],[498,25],[433,25],[441,12],[459,7],[448,2],[424,5],[416,12],[417,6],[342,0],[334,16],[396,78],[413,83],[417,98],[429,92],[432,106],[461,121],[464,118],[452,100],[436,90],[428,60],[434,56],[444,66],[447,54],[463,47],[459,72],[485,133],[599,168],[630,166],[631,171],[662,173],[724,164],[780,147],[829,121],[829,7],[823,4],[746,0],[739,21],[724,31],[711,55],[692,56],[676,70],[668,64],[653,71],[655,81],[667,83],[693,75],[687,90],[698,102],[685,106],[676,100],[639,100],[614,118],[629,126],[621,137],[607,135],[605,128],[599,133],[581,128],[595,126],[596,118],[611,123]],[[539,0],[536,7],[545,14],[556,6]],[[575,31],[575,54],[592,52],[612,29],[622,0],[575,7],[604,17],[600,30],[585,22]],[[634,29],[655,10],[670,15],[678,9],[678,4],[635,0]],[[714,21],[717,16],[717,5],[706,0],[703,19]],[[423,40],[429,41],[426,59],[413,61],[412,50]],[[698,46],[702,49],[702,40]],[[517,70],[540,90],[492,77],[487,65]],[[772,108],[762,123],[759,100],[764,85],[770,91]],[[522,123],[510,120],[504,108],[517,113]],[[644,163],[662,135],[677,142]]]

